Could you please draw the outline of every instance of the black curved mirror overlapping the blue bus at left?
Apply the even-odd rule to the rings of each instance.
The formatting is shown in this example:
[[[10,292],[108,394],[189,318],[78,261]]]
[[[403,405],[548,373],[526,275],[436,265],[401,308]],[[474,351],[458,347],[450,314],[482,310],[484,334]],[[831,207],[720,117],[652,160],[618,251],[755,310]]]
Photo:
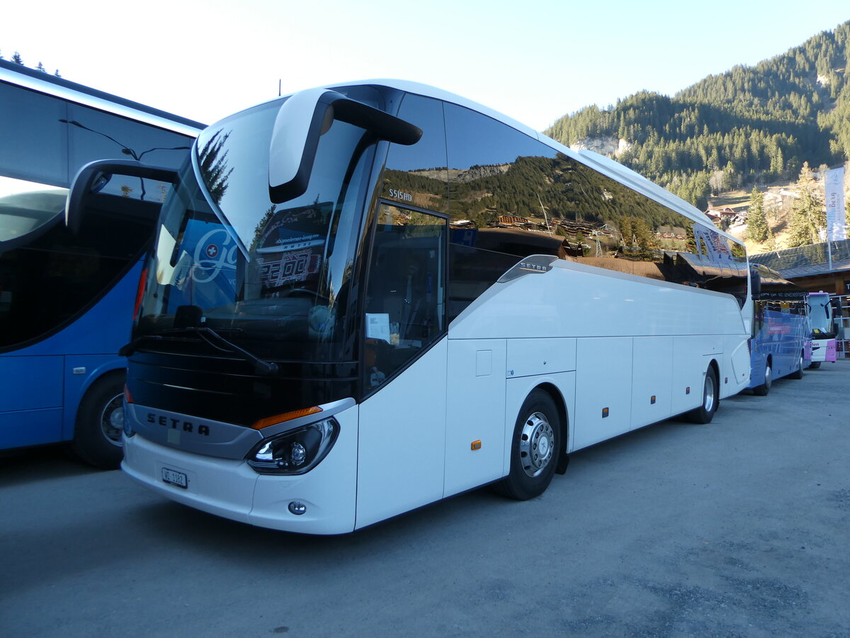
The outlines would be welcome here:
[[[150,166],[133,160],[98,160],[89,162],[77,171],[65,200],[65,225],[74,235],[80,231],[85,210],[92,197],[103,189],[113,174],[156,179],[170,184],[177,183],[177,171],[172,168]]]

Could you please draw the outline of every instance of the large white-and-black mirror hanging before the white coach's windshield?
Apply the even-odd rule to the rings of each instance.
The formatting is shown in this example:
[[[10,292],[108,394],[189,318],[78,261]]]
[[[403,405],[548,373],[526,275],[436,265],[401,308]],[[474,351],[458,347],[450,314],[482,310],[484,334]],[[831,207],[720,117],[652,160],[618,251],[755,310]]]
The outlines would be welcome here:
[[[279,204],[307,191],[319,138],[334,120],[354,124],[378,140],[412,145],[422,129],[343,94],[310,88],[289,97],[277,111],[269,145],[269,198]]]

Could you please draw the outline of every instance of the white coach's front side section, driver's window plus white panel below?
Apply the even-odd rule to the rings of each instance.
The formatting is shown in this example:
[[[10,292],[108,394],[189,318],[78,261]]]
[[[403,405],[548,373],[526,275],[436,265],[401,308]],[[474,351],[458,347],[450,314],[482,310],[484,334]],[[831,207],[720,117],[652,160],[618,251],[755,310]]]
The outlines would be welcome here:
[[[355,527],[443,497],[444,217],[383,203],[368,266]]]

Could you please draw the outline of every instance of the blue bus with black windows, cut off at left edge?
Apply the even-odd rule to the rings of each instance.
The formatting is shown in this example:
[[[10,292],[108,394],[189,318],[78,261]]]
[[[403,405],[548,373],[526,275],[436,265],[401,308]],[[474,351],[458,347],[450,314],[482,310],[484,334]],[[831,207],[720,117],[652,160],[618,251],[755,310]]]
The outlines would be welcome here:
[[[0,122],[0,450],[66,441],[117,467],[118,350],[171,184],[111,180],[109,205],[66,225],[68,186],[98,159],[176,168],[203,125],[4,60]]]

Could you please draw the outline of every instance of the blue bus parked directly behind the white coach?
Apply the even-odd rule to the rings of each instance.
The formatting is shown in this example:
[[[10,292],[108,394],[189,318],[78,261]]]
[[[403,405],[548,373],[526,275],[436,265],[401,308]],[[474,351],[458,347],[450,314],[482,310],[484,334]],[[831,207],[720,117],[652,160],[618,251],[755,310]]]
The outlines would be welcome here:
[[[808,293],[777,271],[751,264],[753,299],[750,388],[766,396],[774,379],[802,379],[811,355]]]

